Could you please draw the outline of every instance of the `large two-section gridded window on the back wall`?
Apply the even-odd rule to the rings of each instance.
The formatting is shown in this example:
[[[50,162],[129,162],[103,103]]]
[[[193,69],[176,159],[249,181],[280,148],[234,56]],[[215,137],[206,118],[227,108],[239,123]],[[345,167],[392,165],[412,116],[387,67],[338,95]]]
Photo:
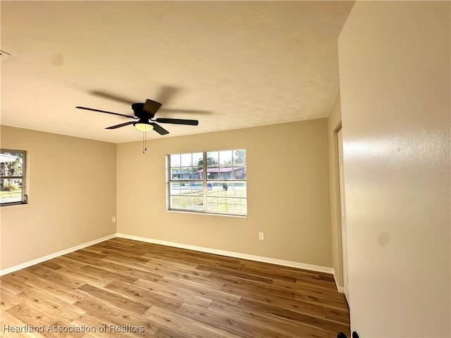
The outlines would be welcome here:
[[[170,210],[247,215],[246,150],[168,155]]]

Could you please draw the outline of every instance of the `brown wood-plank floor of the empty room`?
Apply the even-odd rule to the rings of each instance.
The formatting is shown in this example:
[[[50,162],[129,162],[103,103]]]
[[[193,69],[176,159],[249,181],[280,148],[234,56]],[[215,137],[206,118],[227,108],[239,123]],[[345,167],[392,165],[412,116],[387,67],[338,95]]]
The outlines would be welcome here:
[[[1,277],[1,337],[335,338],[340,331],[350,337],[349,309],[332,275],[129,239]]]

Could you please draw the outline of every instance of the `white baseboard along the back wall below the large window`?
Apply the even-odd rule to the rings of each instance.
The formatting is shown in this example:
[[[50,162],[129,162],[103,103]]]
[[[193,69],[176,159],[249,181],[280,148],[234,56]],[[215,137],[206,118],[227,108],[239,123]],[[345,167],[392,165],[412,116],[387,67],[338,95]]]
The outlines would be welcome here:
[[[321,272],[321,273],[333,274],[333,268],[328,268],[327,266],[322,266],[322,265],[312,265],[312,264],[306,264],[306,263],[299,263],[299,262],[295,262],[295,261],[284,261],[282,259],[277,259],[277,258],[269,258],[269,257],[264,257],[264,256],[254,256],[254,255],[249,255],[247,253],[240,253],[240,252],[234,252],[234,251],[225,251],[225,250],[211,249],[211,248],[205,248],[204,246],[194,246],[194,245],[190,245],[190,244],[181,244],[181,243],[175,243],[175,242],[167,242],[167,241],[161,241],[160,239],[152,239],[152,238],[147,238],[147,237],[132,236],[130,234],[119,234],[118,233],[116,235],[117,235],[117,237],[120,237],[120,238],[133,239],[135,241],[140,241],[140,242],[161,244],[161,245],[166,245],[166,246],[174,246],[174,247],[180,248],[180,249],[189,249],[189,250],[194,250],[194,251],[202,251],[202,252],[206,252],[206,253],[214,253],[216,255],[221,255],[221,256],[228,256],[228,257],[233,257],[233,258],[248,259],[249,261],[258,261],[258,262],[264,262],[264,263],[271,263],[271,264],[289,266],[290,268],[298,268],[298,269],[304,269],[304,270],[317,271],[317,272]],[[334,276],[334,278],[335,278],[335,276]]]

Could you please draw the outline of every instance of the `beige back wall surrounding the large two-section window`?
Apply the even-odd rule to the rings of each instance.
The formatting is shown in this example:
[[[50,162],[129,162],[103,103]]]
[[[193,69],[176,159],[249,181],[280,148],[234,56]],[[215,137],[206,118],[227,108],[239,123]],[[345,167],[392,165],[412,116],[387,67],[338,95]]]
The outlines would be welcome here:
[[[118,232],[332,266],[327,119],[118,144]],[[165,156],[247,149],[248,217],[166,211]],[[259,241],[258,232],[265,233]]]

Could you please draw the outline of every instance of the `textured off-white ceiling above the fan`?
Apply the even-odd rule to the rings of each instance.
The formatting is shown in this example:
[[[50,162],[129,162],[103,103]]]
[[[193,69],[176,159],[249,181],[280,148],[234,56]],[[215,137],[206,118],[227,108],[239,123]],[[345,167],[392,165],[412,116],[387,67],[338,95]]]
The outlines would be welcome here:
[[[171,137],[326,117],[353,1],[1,1],[1,124],[106,142],[153,99]]]

